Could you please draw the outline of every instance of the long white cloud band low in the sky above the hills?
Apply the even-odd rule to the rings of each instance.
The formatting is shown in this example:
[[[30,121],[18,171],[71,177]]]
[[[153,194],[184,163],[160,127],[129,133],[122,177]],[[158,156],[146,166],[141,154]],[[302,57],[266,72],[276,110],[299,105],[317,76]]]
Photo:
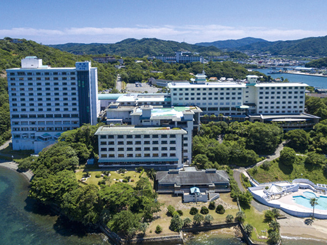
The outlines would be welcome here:
[[[266,40],[292,40],[313,36],[325,36],[327,30],[288,30],[282,28],[268,29],[264,27],[228,27],[216,24],[206,26],[135,26],[131,28],[66,28],[66,29],[34,29],[13,28],[0,29],[0,37],[26,38],[44,44],[66,42],[104,42],[114,43],[125,38],[159,38],[164,40],[183,41],[188,43],[212,42],[243,37],[257,37]]]

